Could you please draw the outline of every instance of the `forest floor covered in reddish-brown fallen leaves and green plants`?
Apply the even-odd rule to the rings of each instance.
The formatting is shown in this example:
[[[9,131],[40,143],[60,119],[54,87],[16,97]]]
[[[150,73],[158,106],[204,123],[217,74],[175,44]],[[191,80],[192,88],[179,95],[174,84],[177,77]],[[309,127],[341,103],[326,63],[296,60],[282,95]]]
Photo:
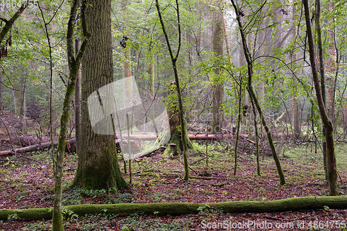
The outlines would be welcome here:
[[[200,152],[189,153],[189,162],[205,156],[205,145],[195,144]],[[131,190],[108,195],[105,190],[85,191],[69,187],[77,166],[76,155],[69,155],[65,160],[63,205],[213,203],[328,194],[321,151],[314,153],[312,144],[285,148],[285,157],[282,156],[280,161],[285,172],[286,185],[279,184],[276,166],[269,156],[260,157],[261,176],[257,176],[255,155],[242,155],[234,176],[234,155],[230,155],[230,147],[226,150],[226,146],[227,144],[222,142],[209,144],[208,166],[205,160],[191,164],[190,174],[193,178],[189,181],[182,180],[184,170],[181,157],[169,159],[162,152],[158,152],[151,157],[134,161]],[[339,189],[341,195],[346,195],[347,145],[337,144],[336,153]],[[40,152],[23,155],[39,162],[20,156],[0,158],[0,209],[52,207],[53,171],[50,154]],[[124,169],[122,171],[124,172]],[[125,177],[129,180],[128,174],[125,174]],[[347,223],[347,209],[225,214],[218,209],[201,207],[196,214],[184,216],[98,214],[77,217],[72,214],[65,217],[64,223],[65,230],[341,230],[342,226],[335,221]],[[235,225],[241,226],[237,228]],[[51,230],[51,221],[0,221],[0,230]]]

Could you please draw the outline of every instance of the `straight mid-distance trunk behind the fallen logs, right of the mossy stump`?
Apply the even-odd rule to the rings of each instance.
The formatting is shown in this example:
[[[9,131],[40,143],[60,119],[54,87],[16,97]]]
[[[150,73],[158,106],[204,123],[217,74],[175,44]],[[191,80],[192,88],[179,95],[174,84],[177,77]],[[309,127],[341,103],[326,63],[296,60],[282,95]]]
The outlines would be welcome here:
[[[213,85],[213,99],[212,99],[212,134],[217,134],[221,132],[221,126],[223,124],[223,112],[222,105],[224,99],[224,85],[223,80],[219,78],[221,74],[219,70],[219,61],[218,59],[223,58],[223,10],[220,8],[219,3],[216,3],[216,6],[213,11],[214,18],[214,31],[213,31],[213,53],[217,58],[215,65],[217,66],[214,69],[214,78]]]

